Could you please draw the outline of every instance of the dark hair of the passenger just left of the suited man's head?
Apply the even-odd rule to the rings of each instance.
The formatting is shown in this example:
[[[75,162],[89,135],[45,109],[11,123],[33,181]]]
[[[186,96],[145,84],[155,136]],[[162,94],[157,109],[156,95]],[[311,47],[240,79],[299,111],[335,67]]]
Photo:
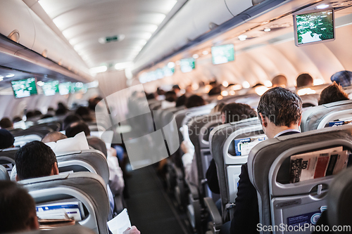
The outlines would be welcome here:
[[[225,124],[257,116],[255,110],[249,105],[242,103],[230,103],[225,105],[221,110],[221,114],[225,115]]]

